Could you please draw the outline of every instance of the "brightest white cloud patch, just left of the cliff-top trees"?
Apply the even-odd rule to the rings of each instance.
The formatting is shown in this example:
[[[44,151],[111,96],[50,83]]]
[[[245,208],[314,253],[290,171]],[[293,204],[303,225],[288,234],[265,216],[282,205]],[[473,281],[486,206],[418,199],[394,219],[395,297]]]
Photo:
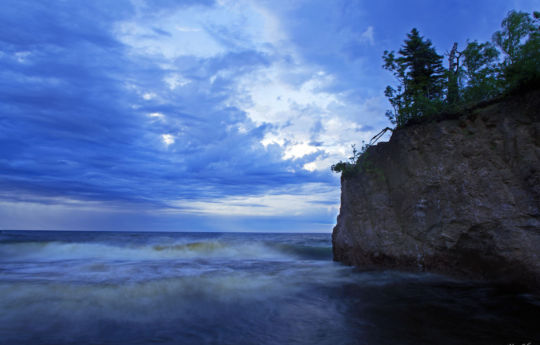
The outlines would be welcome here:
[[[291,81],[296,79],[303,81]],[[380,98],[352,102],[346,94],[326,91],[333,81],[333,76],[309,65],[280,62],[240,78],[229,101],[255,124],[272,125],[261,140],[263,146],[279,145],[284,160],[318,152],[321,155],[303,168],[327,170],[350,155],[352,144],[361,146],[376,134],[376,129],[365,130],[360,123],[382,111]]]

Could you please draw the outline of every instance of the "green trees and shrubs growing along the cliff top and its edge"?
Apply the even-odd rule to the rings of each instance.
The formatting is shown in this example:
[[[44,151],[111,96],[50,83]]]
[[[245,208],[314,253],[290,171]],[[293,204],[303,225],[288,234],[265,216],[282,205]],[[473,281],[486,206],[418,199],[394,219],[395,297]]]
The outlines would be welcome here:
[[[384,92],[392,106],[386,116],[396,128],[540,85],[540,12],[510,11],[492,42],[468,41],[462,51],[454,43],[445,55],[448,67],[417,29],[407,34],[397,53],[384,52],[383,68],[398,82]],[[332,165],[332,171],[347,177],[365,170],[368,147],[357,151],[353,146],[349,161]]]

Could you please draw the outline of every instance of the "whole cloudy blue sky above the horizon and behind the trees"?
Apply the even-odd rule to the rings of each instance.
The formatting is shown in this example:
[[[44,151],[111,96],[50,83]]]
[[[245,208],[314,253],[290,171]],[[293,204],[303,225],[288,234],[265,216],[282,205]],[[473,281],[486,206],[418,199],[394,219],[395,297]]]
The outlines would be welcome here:
[[[383,51],[511,9],[540,0],[2,0],[0,230],[331,232]]]

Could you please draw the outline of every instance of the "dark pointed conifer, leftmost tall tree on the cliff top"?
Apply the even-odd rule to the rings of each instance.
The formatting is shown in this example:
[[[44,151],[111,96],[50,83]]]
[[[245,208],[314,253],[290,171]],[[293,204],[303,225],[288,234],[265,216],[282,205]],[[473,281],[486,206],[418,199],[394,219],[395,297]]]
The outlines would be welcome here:
[[[398,53],[400,56],[396,58],[393,51],[385,51],[383,67],[393,72],[399,82],[396,89],[387,86],[385,90],[393,107],[393,111],[387,111],[386,115],[399,127],[412,118],[440,110],[446,71],[442,66],[442,56],[416,29],[407,34]]]

